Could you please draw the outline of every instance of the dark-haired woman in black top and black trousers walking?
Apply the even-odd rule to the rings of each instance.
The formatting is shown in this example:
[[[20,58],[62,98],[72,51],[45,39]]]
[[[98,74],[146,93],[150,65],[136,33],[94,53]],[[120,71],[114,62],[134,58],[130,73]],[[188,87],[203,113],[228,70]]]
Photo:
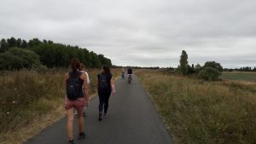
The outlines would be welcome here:
[[[108,100],[111,93],[115,94],[114,79],[109,66],[102,66],[101,73],[98,74],[96,86],[99,95],[99,121],[102,121],[102,112],[104,117],[108,116]]]

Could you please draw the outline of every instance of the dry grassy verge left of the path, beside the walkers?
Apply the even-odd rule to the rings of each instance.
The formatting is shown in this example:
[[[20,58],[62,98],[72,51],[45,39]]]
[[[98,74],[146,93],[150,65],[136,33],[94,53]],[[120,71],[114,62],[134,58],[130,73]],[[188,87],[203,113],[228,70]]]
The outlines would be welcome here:
[[[65,116],[65,72],[1,72],[0,144],[22,143]],[[91,94],[96,93],[98,72],[96,69],[89,72]],[[118,72],[113,71],[113,74],[117,76]]]

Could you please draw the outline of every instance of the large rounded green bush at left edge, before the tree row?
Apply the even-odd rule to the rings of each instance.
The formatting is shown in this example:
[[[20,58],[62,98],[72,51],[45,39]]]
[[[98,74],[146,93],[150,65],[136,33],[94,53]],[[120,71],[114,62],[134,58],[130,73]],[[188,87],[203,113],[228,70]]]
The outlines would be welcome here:
[[[39,66],[38,55],[27,49],[13,48],[0,54],[0,70],[14,70]]]

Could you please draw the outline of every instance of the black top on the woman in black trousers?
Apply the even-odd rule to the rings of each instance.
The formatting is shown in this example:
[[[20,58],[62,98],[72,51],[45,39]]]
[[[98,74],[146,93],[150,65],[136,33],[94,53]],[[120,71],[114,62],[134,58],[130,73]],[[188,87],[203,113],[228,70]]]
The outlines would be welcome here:
[[[113,75],[100,73],[97,75],[98,78],[98,91],[99,92],[111,92],[111,78]]]

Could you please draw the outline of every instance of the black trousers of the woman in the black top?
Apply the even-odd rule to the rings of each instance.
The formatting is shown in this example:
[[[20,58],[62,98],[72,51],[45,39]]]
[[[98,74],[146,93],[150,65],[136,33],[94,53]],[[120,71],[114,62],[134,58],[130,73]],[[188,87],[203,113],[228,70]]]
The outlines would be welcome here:
[[[101,92],[100,91],[98,93],[98,95],[99,95],[99,100],[100,100],[99,112],[102,113],[103,107],[104,107],[104,113],[107,113],[108,112],[108,100],[111,95],[111,91],[110,92]]]

